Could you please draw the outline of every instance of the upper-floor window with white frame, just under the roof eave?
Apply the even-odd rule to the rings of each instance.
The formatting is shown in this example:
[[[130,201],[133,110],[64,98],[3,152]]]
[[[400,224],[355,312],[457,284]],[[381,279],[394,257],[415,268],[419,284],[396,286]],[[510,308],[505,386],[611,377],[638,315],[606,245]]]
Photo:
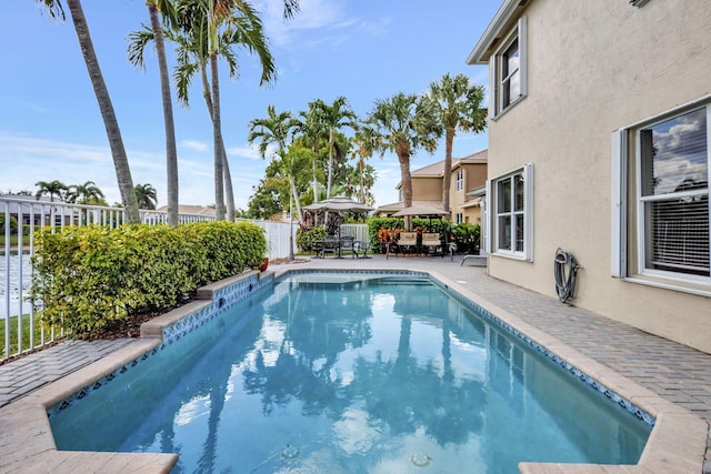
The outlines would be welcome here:
[[[491,118],[497,118],[527,94],[525,18],[491,57],[493,93],[490,95]]]

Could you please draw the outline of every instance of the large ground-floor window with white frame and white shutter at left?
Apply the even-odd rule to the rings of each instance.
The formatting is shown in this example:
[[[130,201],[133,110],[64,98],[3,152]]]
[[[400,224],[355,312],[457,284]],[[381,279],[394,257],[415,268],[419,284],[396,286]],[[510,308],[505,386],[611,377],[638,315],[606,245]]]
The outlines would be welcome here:
[[[710,130],[707,99],[615,132],[613,276],[711,283]],[[627,202],[629,186],[635,202]],[[627,239],[628,229],[637,231],[632,239]],[[633,249],[627,249],[628,242]],[[628,261],[630,253],[637,265]]]

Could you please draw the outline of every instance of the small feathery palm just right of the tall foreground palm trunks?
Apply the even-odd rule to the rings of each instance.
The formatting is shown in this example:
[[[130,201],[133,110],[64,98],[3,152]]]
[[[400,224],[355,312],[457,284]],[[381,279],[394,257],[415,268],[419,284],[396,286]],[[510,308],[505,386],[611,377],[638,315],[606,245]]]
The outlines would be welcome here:
[[[277,113],[274,105],[267,108],[266,119],[253,119],[249,122],[249,134],[247,141],[250,143],[259,142],[259,155],[264,159],[270,147],[276,147],[276,150],[271,153],[272,158],[283,160],[287,154],[287,148],[289,142],[293,138],[293,133],[299,128],[299,121],[291,115],[291,112],[284,111]],[[299,201],[299,193],[293,180],[293,175],[290,179],[291,195],[297,205],[297,215],[299,223],[301,223],[301,204]]]

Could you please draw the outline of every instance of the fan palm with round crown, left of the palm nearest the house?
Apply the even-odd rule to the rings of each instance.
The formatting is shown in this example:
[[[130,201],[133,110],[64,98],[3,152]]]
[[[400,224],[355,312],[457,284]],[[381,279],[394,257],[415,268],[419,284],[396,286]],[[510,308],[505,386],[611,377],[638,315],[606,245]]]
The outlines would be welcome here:
[[[410,157],[419,148],[432,153],[442,135],[434,102],[428,97],[399,92],[390,99],[377,100],[367,122],[373,127],[375,149],[398,155],[404,206],[411,206]]]

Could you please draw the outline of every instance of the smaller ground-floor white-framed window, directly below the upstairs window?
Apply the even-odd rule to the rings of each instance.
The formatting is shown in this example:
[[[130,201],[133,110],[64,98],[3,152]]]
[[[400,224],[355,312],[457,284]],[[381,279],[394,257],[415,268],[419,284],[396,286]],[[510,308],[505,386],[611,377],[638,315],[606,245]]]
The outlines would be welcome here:
[[[533,165],[491,181],[492,252],[531,261],[533,220]]]

